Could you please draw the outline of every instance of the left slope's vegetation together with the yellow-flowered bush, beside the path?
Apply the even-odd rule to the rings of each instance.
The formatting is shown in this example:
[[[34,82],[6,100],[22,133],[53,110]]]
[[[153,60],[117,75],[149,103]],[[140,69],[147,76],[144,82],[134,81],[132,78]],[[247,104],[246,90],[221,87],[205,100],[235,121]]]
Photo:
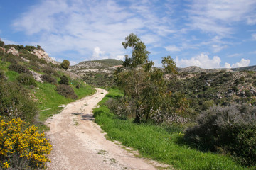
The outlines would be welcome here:
[[[0,167],[45,168],[51,145],[36,126],[44,126],[46,118],[62,109],[60,105],[95,89],[31,53],[40,46],[1,45],[5,51],[14,47],[20,56],[0,48]]]

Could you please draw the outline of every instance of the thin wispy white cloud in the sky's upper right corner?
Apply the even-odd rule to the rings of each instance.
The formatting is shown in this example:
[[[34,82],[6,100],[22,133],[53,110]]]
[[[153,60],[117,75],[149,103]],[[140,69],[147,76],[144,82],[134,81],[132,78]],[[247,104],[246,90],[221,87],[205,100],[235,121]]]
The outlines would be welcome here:
[[[194,0],[188,10],[190,26],[206,33],[215,33],[226,37],[233,33],[232,23],[247,20],[255,13],[256,1],[228,0]],[[242,6],[242,7],[241,7]]]

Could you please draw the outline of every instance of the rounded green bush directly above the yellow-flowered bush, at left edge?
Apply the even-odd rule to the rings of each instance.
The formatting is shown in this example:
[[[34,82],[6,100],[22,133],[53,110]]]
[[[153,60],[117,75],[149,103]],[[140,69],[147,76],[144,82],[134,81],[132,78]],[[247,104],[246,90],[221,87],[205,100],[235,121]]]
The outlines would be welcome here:
[[[0,115],[31,122],[37,113],[36,103],[19,84],[0,81]]]

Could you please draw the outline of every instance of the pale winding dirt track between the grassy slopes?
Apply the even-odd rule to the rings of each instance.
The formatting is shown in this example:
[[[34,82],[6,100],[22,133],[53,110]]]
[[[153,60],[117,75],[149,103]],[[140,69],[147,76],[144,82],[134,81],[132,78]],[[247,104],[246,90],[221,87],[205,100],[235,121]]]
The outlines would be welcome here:
[[[103,94],[102,94],[103,93]],[[105,139],[100,126],[93,121],[92,109],[107,94],[97,93],[68,104],[63,111],[48,118],[46,136],[53,145],[48,169],[156,169],[154,161],[136,157],[117,142]]]

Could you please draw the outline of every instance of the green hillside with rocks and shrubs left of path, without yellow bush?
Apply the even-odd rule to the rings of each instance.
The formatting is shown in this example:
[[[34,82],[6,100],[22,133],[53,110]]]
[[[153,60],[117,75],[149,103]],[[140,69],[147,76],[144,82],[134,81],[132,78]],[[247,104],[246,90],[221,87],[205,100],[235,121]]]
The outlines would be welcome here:
[[[62,109],[59,106],[95,90],[60,67],[40,46],[4,45],[1,41],[0,91],[1,116],[44,126],[46,118]]]

